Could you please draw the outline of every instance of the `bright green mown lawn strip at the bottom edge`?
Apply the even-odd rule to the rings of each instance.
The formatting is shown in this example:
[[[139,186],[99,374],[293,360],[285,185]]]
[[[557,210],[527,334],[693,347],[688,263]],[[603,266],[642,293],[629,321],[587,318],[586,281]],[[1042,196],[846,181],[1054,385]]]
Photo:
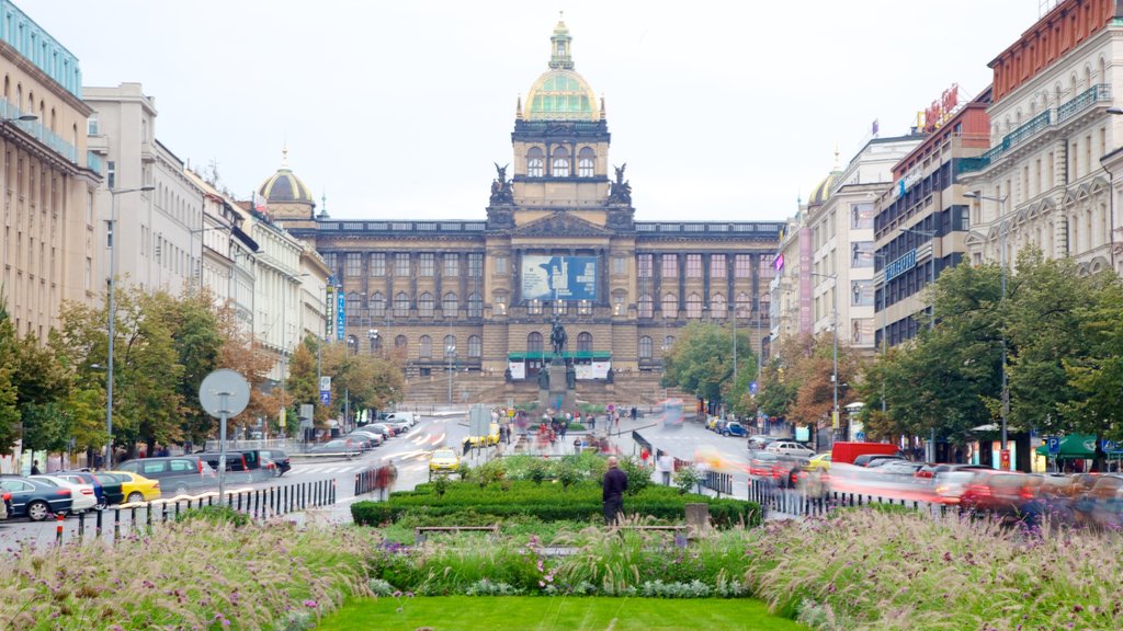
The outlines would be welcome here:
[[[402,607],[402,611],[398,611]],[[595,596],[446,596],[351,600],[317,629],[385,631],[672,631],[807,629],[770,615],[749,598],[624,598]]]

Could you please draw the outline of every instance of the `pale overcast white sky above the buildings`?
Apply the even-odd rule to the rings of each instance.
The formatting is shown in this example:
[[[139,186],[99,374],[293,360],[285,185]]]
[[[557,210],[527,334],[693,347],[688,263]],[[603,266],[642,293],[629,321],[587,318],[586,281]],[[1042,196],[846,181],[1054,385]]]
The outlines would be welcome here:
[[[238,198],[281,166],[337,218],[480,219],[558,10],[640,220],[777,220],[1038,19],[1040,0],[16,0],[84,85],[139,82],[156,136]],[[610,172],[611,174],[611,172]]]

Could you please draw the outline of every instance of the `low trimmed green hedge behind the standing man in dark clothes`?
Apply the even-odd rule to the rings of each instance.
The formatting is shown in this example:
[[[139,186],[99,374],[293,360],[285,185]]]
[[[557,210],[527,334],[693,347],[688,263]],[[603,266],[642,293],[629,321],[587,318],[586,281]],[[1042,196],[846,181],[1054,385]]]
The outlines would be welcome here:
[[[676,488],[650,486],[624,499],[624,512],[656,519],[679,521],[687,503],[710,505],[710,516],[720,528],[740,523],[760,524],[760,507],[743,500],[715,500],[704,495],[679,494]],[[414,491],[391,494],[386,502],[355,502],[351,518],[362,525],[378,525],[403,515],[440,516],[465,511],[495,518],[533,516],[541,521],[578,521],[600,519],[601,487],[582,483],[563,490],[557,484],[506,482],[481,488],[477,484],[450,483],[442,495],[435,484],[421,484]]]

